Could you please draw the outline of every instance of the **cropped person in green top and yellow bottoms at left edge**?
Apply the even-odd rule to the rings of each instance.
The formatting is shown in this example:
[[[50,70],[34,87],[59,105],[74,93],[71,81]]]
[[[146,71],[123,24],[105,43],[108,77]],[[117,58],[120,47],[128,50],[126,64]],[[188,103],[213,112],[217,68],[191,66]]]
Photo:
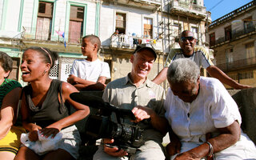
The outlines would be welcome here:
[[[25,132],[21,126],[13,126],[22,86],[19,82],[8,79],[12,68],[10,56],[0,52],[0,159],[14,159],[21,144],[20,135]]]

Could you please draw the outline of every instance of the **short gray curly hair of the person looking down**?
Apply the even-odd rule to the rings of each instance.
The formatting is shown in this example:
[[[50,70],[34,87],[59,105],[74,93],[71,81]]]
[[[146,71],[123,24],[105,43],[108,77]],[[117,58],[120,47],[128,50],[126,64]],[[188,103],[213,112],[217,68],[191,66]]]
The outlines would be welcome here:
[[[197,82],[200,76],[198,65],[189,58],[179,58],[170,63],[167,80],[171,84],[177,82]]]

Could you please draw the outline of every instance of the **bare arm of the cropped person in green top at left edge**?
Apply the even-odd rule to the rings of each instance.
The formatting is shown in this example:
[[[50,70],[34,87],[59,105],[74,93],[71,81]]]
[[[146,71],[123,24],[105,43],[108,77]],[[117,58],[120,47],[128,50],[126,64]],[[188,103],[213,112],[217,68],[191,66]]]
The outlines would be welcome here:
[[[21,88],[14,88],[2,100],[0,110],[0,139],[6,137],[10,127],[16,122],[19,92]]]

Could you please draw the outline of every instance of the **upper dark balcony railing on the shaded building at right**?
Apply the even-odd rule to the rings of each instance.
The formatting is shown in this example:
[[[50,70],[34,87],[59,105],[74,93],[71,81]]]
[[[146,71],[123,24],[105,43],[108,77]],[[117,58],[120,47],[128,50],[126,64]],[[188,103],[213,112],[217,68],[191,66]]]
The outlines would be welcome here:
[[[233,41],[242,35],[250,34],[252,32],[256,31],[256,25],[247,26],[247,28],[243,30],[233,30],[231,37],[229,39],[226,39],[225,37],[218,38],[215,40],[215,42],[210,42],[211,46],[218,46],[219,44],[226,42],[226,41]]]

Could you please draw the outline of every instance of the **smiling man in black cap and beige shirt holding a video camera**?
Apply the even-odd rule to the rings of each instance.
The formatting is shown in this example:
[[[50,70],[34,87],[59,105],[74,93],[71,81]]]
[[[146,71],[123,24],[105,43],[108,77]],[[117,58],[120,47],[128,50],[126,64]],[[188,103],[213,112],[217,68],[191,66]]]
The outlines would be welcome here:
[[[162,138],[166,134],[167,124],[163,103],[166,98],[162,86],[147,79],[157,54],[150,44],[141,44],[131,55],[131,72],[124,78],[110,82],[102,96],[105,102],[133,112],[135,120],[122,118],[122,123],[140,126],[144,143],[138,146],[135,154],[114,144],[115,139],[104,138],[94,154],[94,160],[108,159],[155,159],[164,160]],[[116,140],[118,141],[118,140]]]

